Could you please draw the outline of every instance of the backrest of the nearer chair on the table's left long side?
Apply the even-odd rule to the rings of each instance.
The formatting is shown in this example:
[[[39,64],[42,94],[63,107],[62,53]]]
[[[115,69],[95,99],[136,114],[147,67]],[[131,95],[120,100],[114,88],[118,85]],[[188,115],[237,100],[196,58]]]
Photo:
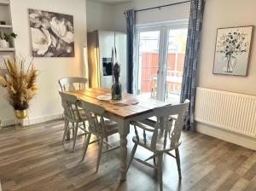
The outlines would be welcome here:
[[[84,108],[86,118],[88,119],[90,132],[97,136],[105,136],[107,128],[102,116],[103,113],[105,113],[105,108],[87,101],[81,100],[80,102],[81,107]]]

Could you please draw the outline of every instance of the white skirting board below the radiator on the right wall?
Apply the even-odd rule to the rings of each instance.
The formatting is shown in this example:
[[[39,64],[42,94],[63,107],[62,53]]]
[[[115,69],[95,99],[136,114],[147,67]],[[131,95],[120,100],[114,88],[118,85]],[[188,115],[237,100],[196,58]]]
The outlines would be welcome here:
[[[256,137],[248,137],[239,135],[237,133],[230,132],[228,130],[222,130],[218,127],[214,127],[208,124],[196,123],[196,131],[207,136],[213,136],[225,142],[232,142],[236,145],[240,145],[244,148],[250,148],[256,150]]]

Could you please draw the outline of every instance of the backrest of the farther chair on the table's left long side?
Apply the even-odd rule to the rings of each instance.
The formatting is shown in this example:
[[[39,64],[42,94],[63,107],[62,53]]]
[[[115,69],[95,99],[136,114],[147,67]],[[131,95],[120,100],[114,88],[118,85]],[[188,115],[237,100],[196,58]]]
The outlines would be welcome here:
[[[62,107],[64,108],[64,117],[72,120],[81,119],[78,107],[79,99],[65,92],[59,91],[59,94],[61,96]]]

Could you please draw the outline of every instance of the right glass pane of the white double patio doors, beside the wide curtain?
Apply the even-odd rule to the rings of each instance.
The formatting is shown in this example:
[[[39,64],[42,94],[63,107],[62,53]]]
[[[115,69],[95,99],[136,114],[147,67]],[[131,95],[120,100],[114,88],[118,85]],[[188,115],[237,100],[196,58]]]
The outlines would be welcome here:
[[[177,29],[169,32],[166,101],[172,103],[178,103],[180,100],[187,35],[188,29]]]

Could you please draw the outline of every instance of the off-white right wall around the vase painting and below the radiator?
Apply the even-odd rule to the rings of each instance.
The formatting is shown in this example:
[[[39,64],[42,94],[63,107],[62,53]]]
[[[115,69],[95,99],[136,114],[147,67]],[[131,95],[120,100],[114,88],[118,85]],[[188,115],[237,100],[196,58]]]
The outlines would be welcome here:
[[[201,38],[198,85],[200,87],[256,95],[256,30],[253,32],[251,57],[247,77],[212,74],[216,33],[218,28],[256,26],[255,0],[207,0]],[[195,111],[196,112],[196,111]],[[256,139],[220,130],[207,124],[197,124],[197,130],[234,142],[247,148],[256,148]]]

